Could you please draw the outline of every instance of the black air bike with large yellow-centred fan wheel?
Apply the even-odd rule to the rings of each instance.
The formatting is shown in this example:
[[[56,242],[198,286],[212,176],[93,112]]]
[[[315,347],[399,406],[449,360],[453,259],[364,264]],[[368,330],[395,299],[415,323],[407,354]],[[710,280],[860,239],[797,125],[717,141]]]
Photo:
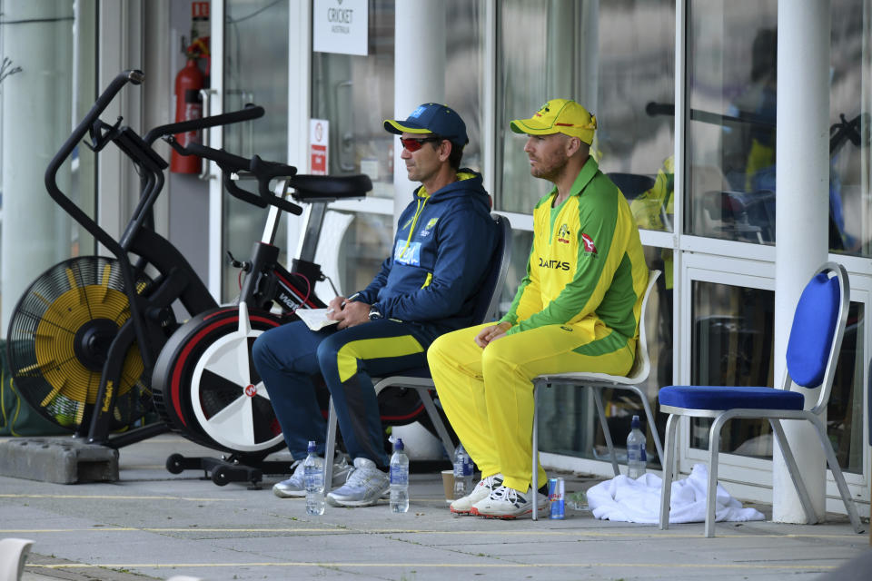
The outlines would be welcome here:
[[[7,332],[9,366],[28,403],[46,419],[73,430],[77,437],[110,448],[121,448],[173,428],[165,421],[144,422],[155,408],[151,382],[156,359],[180,327],[173,303],[192,317],[219,306],[182,253],[154,231],[154,202],[163,188],[163,170],[168,163],[154,152],[152,144],[173,133],[263,115],[263,108],[250,106],[239,112],[162,125],[144,136],[122,126],[121,118],[114,124],[100,120],[100,114],[126,84],[141,84],[143,80],[140,71],[118,74],[45,172],[45,186],[54,202],[114,258],[76,257],[45,271],[18,301]],[[90,139],[84,144],[95,153],[114,143],[141,175],[139,202],[118,241],[57,185],[60,167],[73,156],[85,136]],[[290,166],[271,162],[259,161],[256,169],[258,175],[295,173]],[[368,188],[360,186],[369,179],[326,178],[318,180],[317,185],[324,182],[332,182],[340,190],[351,184],[354,195],[361,196]],[[239,188],[230,192],[264,208],[302,212],[298,205],[272,192],[255,195]],[[308,304],[315,303],[308,300]],[[261,319],[269,319],[272,326],[280,320],[272,315]],[[254,324],[266,323],[255,320]],[[184,422],[190,423],[190,419]],[[279,447],[272,441],[268,444],[263,446]]]

